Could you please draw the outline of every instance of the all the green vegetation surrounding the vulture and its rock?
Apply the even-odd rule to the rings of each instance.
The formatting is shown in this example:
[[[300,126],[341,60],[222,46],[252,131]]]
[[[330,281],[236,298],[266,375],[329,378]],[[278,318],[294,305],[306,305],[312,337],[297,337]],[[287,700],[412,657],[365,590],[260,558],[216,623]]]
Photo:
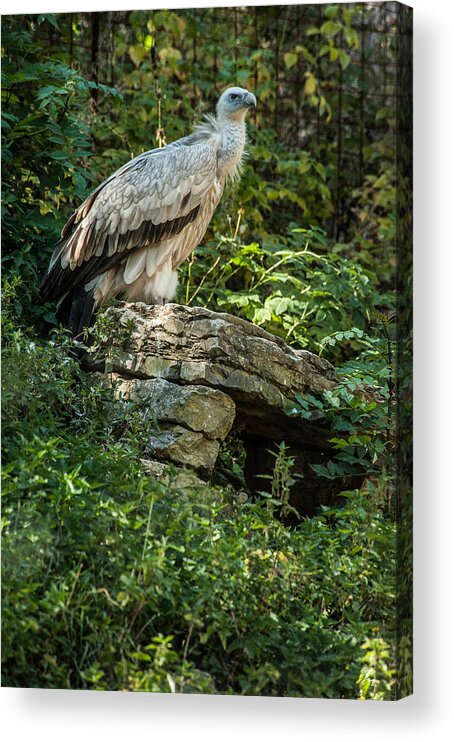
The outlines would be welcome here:
[[[396,661],[389,76],[383,98],[365,95],[393,36],[365,43],[358,19],[374,24],[373,8],[317,8],[296,37],[275,10],[256,9],[252,25],[210,10],[3,18],[5,685],[375,699],[411,687],[406,635]],[[356,164],[332,137],[339,76]],[[337,454],[320,476],[366,476],[293,529],[278,517],[285,446],[271,500],[245,496],[234,442],[228,480],[154,479],[134,406],[112,413],[55,307],[36,302],[71,209],[131,155],[187,133],[214,82],[254,89],[259,109],[250,162],[182,269],[179,299],[334,363],[338,387],[288,412],[329,419]]]

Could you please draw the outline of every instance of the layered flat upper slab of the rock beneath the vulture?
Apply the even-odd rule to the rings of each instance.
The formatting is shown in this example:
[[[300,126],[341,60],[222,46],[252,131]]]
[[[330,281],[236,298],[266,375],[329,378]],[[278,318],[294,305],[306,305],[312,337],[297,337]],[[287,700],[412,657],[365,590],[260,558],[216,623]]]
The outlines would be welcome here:
[[[335,386],[335,371],[324,359],[295,350],[246,320],[200,307],[135,303],[107,311],[132,327],[127,349],[115,352],[119,376],[218,390],[234,401],[236,422],[247,433],[327,445],[328,431],[284,411],[296,393]]]

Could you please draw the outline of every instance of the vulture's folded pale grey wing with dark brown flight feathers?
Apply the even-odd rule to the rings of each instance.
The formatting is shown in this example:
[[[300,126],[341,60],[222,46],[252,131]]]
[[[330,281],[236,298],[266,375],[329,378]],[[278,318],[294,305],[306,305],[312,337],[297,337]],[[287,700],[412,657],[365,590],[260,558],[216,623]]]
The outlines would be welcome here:
[[[43,298],[59,298],[126,258],[126,251],[158,245],[197,219],[216,179],[214,148],[205,142],[169,145],[132,160],[84,201],[62,231]],[[128,278],[142,258],[127,263]],[[142,265],[142,270],[145,263]],[[129,281],[128,281],[129,282]]]

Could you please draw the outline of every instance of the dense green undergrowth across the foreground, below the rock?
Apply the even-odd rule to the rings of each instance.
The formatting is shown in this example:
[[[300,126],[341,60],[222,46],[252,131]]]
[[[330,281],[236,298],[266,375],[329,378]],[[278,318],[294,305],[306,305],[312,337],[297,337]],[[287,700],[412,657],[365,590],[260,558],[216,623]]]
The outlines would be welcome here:
[[[266,504],[163,486],[93,407],[90,435],[54,409],[49,437],[67,372],[44,389],[62,348],[43,352],[21,345],[36,406],[6,397],[3,683],[355,697],[393,621],[393,525],[358,493],[291,532]]]

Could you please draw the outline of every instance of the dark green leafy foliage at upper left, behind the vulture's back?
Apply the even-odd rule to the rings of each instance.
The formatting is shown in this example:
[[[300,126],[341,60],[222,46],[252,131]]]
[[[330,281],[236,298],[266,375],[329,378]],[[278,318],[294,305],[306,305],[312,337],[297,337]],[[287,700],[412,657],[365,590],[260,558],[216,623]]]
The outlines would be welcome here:
[[[30,311],[69,210],[92,185],[90,93],[97,88],[118,97],[38,40],[49,26],[58,29],[55,16],[2,19],[2,262],[9,275],[22,278],[19,316]],[[31,310],[35,320],[39,314]]]

